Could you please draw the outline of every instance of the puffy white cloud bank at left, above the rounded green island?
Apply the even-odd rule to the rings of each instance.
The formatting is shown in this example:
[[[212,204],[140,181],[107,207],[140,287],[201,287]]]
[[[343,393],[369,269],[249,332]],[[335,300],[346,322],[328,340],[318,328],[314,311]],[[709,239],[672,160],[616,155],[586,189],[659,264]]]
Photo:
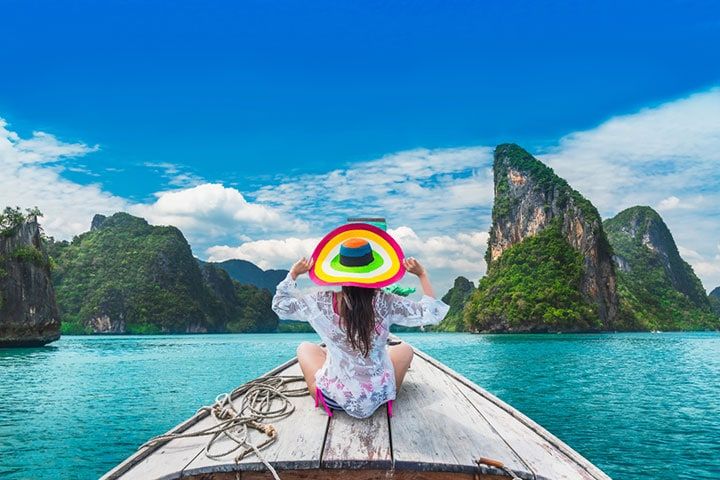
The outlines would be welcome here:
[[[94,214],[128,211],[160,225],[175,225],[191,243],[235,241],[269,230],[279,233],[305,231],[304,222],[287,218],[272,207],[248,202],[238,190],[220,184],[200,184],[155,194],[151,203],[136,203],[105,191],[100,184],[79,184],[63,171],[83,171],[68,159],[98,149],[84,143],[66,143],[51,134],[33,132],[21,138],[0,118],[0,205],[38,206],[45,214],[48,234],[68,239],[87,231]],[[159,168],[159,167],[158,167]],[[164,168],[176,168],[165,165]]]

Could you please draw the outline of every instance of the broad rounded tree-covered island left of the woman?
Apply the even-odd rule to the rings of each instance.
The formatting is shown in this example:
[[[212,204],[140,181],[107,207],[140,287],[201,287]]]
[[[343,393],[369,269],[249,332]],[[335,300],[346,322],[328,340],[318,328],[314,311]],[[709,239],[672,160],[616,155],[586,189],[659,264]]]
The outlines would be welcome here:
[[[50,253],[64,333],[272,331],[270,294],[199,267],[175,227],[126,213],[96,216],[91,231]]]

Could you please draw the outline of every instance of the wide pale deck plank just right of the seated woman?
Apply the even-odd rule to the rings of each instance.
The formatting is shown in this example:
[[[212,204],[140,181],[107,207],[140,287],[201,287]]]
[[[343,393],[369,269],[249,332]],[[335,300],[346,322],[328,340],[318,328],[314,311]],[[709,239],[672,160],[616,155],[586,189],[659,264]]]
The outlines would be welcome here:
[[[452,378],[421,357],[413,360],[400,389],[390,432],[396,470],[475,472],[476,460],[487,457],[522,478],[533,478]],[[490,468],[483,473],[501,472]]]

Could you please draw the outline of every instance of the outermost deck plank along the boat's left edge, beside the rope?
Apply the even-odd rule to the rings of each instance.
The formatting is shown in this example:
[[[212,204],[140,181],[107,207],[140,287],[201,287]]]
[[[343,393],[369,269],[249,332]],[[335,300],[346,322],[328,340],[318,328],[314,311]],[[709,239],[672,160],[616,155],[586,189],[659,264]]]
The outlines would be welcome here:
[[[292,358],[278,365],[265,375],[276,375],[292,365],[297,359]],[[299,368],[299,367],[298,367]],[[215,420],[206,411],[199,412],[167,433],[184,433],[198,431],[213,425]],[[121,464],[107,472],[101,480],[148,479],[157,478],[171,480],[179,478],[185,466],[201,454],[207,444],[207,437],[179,438],[165,444],[138,450]]]

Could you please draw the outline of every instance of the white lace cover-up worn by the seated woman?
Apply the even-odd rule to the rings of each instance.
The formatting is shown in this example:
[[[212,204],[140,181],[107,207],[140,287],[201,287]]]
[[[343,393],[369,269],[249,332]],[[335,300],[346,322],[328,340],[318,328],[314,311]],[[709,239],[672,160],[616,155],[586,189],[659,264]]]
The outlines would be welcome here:
[[[281,319],[309,322],[325,342],[327,360],[315,374],[317,386],[357,418],[369,417],[380,405],[395,399],[395,374],[386,345],[390,325],[434,325],[450,308],[427,295],[415,302],[382,290],[377,292],[374,305],[376,335],[368,356],[363,357],[352,348],[340,326],[340,317],[333,311],[332,291],[301,295],[288,275],[273,297],[272,308]]]

